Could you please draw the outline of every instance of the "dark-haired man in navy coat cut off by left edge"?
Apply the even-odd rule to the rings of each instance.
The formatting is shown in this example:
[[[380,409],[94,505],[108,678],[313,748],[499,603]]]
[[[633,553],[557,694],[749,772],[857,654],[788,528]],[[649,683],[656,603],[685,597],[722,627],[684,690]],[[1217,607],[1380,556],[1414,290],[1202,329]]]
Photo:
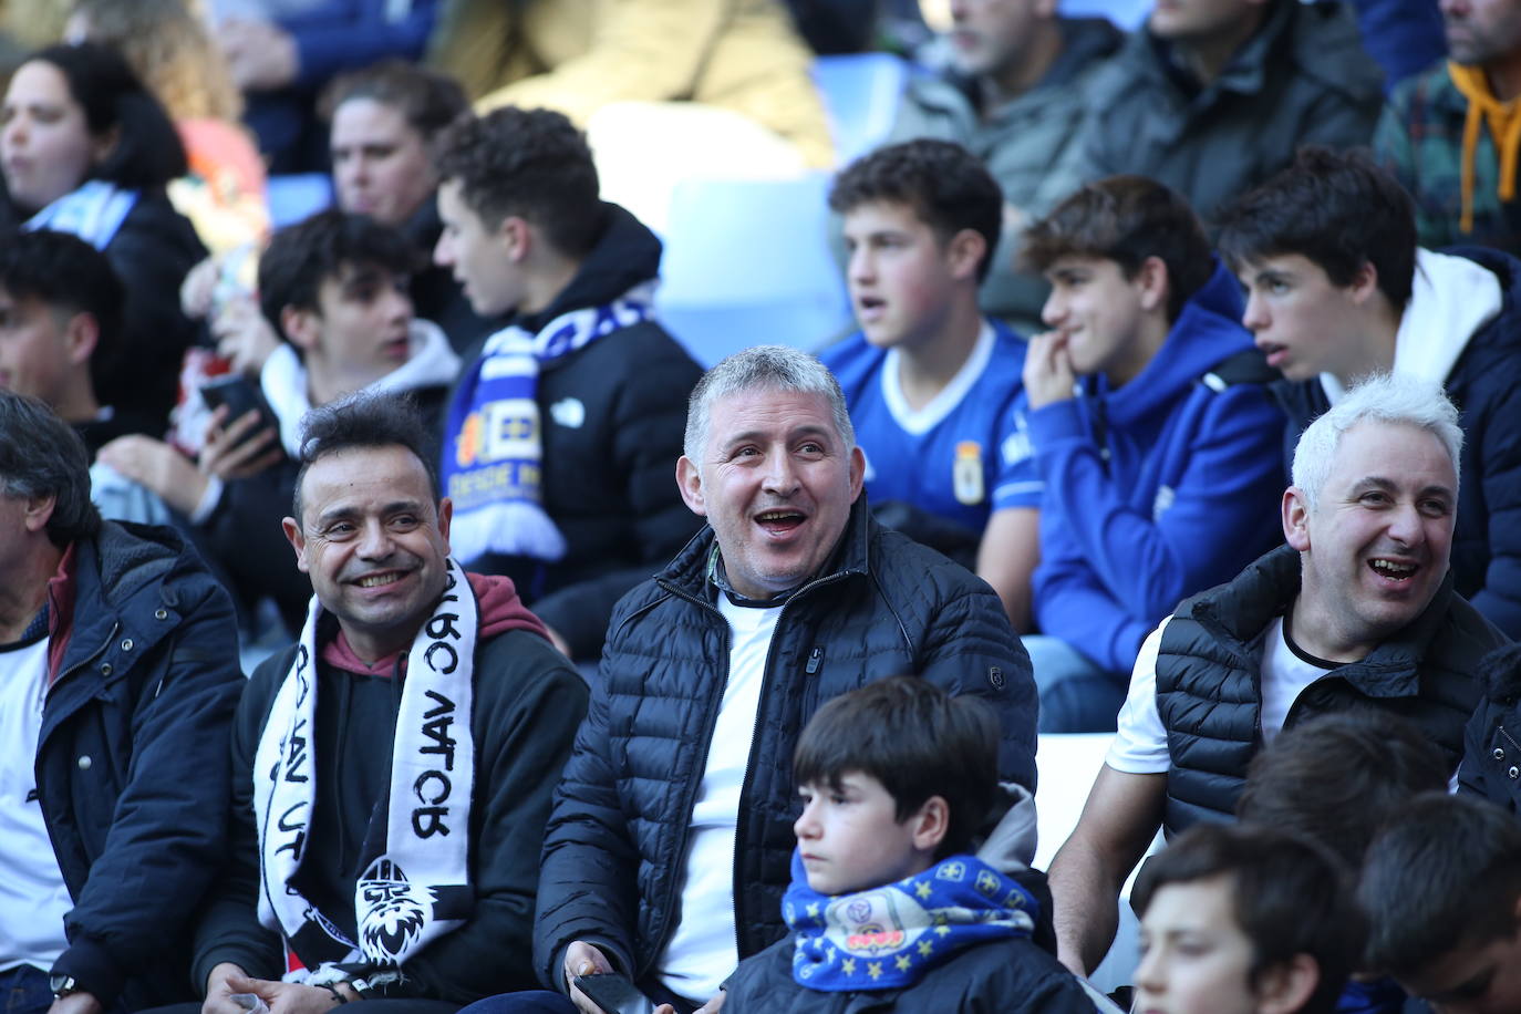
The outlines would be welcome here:
[[[233,607],[169,529],[102,521],[79,436],[0,392],[0,991],[17,1014],[190,997],[227,833]]]

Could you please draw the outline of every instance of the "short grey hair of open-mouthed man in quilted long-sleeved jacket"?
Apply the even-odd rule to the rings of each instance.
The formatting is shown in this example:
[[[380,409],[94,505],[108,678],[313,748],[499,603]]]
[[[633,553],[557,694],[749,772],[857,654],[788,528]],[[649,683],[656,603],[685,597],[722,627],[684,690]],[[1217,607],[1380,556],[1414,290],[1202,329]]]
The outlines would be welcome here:
[[[846,450],[855,447],[855,427],[850,426],[846,395],[829,368],[818,362],[817,356],[809,356],[797,348],[754,345],[719,362],[703,374],[703,379],[692,388],[692,398],[686,409],[686,441],[681,452],[694,462],[701,464],[713,403],[733,394],[757,389],[823,395],[829,403],[830,415],[835,417],[835,430],[844,441]]]

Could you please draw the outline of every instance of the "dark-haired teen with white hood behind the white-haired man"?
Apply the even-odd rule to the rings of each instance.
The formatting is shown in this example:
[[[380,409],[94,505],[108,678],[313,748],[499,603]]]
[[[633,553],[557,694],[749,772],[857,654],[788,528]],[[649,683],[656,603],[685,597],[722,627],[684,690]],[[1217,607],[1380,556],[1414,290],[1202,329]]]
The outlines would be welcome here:
[[[1521,635],[1521,261],[1416,245],[1410,196],[1355,154],[1305,149],[1220,219],[1243,324],[1285,382],[1285,447],[1358,377],[1440,383],[1462,410],[1459,594]]]

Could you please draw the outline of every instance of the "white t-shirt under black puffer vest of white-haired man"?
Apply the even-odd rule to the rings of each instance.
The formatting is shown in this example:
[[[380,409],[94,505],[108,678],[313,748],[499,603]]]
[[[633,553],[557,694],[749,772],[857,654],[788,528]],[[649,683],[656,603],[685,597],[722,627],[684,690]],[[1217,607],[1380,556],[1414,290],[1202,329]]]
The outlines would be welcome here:
[[[1170,620],[1173,617],[1167,617]],[[1167,749],[1167,728],[1156,710],[1156,654],[1162,645],[1162,620],[1141,643],[1136,666],[1130,673],[1130,693],[1119,708],[1118,731],[1104,757],[1115,771],[1126,774],[1162,774],[1171,766]],[[1267,629],[1262,651],[1262,742],[1270,743],[1284,727],[1288,710],[1299,695],[1316,680],[1334,669],[1294,652],[1284,635],[1284,617]]]

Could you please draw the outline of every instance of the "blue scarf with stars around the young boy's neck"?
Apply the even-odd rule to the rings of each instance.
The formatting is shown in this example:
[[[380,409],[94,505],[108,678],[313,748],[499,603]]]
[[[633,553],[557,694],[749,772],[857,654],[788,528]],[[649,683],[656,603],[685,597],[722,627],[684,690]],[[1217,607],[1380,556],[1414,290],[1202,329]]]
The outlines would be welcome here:
[[[951,856],[911,877],[853,894],[808,886],[792,853],[782,917],[792,927],[792,979],[809,990],[902,990],[958,950],[1030,936],[1033,894],[975,856]]]

